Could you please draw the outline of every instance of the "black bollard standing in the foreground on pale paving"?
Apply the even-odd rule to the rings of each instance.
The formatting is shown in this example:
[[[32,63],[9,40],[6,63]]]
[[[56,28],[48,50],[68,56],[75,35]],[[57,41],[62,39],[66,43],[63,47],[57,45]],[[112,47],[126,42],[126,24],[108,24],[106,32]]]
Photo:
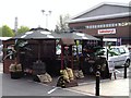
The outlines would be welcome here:
[[[100,65],[97,66],[97,72],[96,72],[96,96],[99,96],[99,79],[100,79],[99,69]]]

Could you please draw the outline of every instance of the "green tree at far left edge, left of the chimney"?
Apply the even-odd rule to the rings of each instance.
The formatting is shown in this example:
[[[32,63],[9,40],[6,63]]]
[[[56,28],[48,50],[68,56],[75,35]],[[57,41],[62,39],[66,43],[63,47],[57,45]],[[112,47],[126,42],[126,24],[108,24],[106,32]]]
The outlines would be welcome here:
[[[1,32],[0,32],[0,36],[2,37],[13,37],[14,36],[14,33],[13,30],[8,26],[8,25],[3,25],[1,27]]]

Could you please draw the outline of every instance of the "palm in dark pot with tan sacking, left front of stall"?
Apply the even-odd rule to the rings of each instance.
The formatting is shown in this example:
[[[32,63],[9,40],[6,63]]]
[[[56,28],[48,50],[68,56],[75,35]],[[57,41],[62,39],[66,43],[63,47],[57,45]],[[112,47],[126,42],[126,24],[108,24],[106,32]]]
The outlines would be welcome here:
[[[25,40],[15,40],[15,44],[10,49],[4,49],[7,51],[10,51],[3,60],[5,60],[8,57],[13,56],[14,62],[11,63],[9,66],[9,72],[11,74],[11,78],[20,78],[22,77],[22,64],[19,63],[19,52],[24,50],[31,50],[26,47],[27,41]]]

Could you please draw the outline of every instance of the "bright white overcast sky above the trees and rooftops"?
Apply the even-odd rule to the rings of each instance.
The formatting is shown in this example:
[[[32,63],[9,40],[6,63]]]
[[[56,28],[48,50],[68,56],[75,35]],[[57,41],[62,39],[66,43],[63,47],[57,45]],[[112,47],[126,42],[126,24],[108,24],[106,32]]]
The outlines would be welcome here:
[[[60,15],[71,17],[84,12],[102,2],[129,3],[131,0],[0,0],[0,27],[17,25],[33,27],[48,27],[55,29]],[[45,10],[43,14],[41,10]],[[48,13],[51,11],[51,14]],[[47,14],[47,16],[46,16]],[[47,22],[46,22],[47,21]],[[46,25],[47,24],[47,25]]]

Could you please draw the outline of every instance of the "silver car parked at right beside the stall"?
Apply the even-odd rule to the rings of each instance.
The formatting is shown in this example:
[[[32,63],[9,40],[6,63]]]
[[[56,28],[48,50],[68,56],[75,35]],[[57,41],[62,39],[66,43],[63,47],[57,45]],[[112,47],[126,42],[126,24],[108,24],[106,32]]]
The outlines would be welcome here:
[[[106,50],[106,48],[105,48]],[[124,46],[112,46],[111,47],[111,52],[108,52],[108,64],[109,62],[114,62],[115,66],[130,66],[130,51],[127,47]],[[105,56],[107,54],[107,52],[105,52]]]

